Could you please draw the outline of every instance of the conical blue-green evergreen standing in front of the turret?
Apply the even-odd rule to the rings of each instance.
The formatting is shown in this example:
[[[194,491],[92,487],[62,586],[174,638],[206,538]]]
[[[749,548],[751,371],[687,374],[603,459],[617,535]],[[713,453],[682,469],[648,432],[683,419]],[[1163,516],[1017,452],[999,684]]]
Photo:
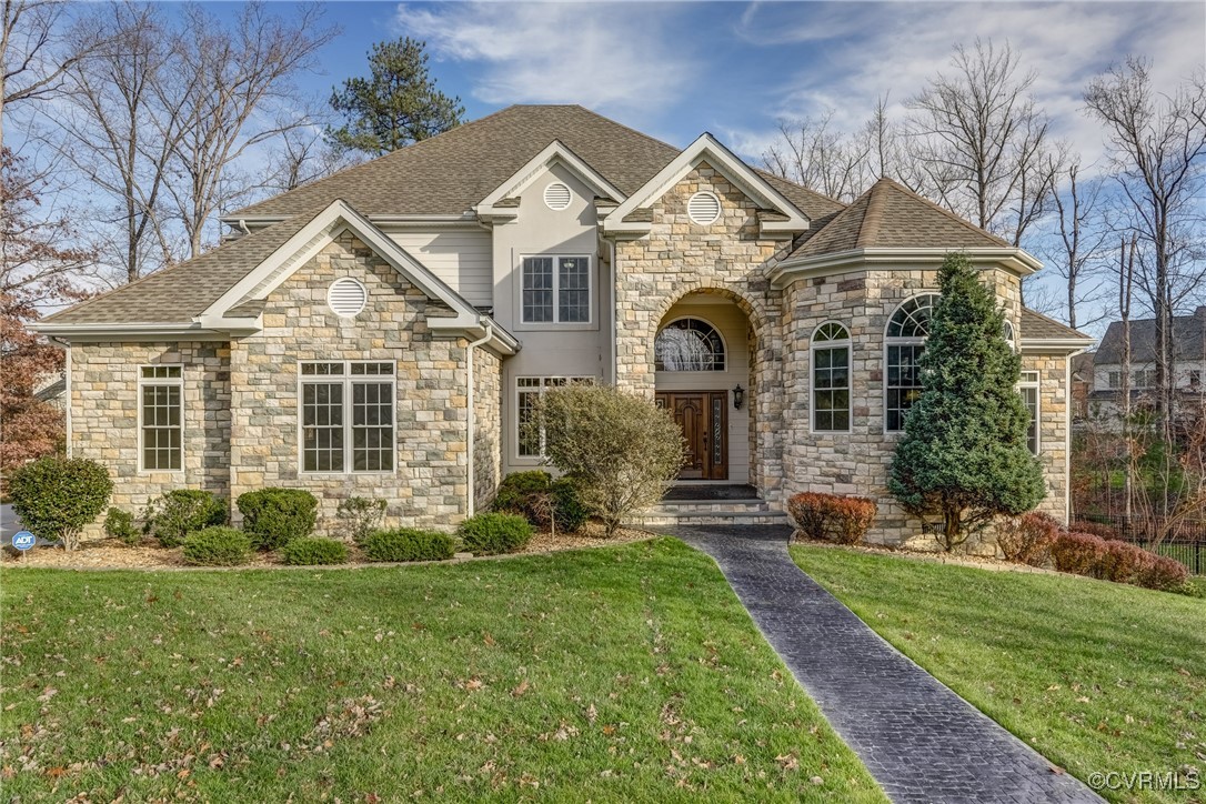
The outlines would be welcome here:
[[[1005,313],[966,254],[948,254],[938,282],[924,392],[904,419],[888,486],[909,513],[942,517],[938,539],[950,551],[994,517],[1035,507],[1044,488],[1026,446],[1021,358],[1003,338]]]

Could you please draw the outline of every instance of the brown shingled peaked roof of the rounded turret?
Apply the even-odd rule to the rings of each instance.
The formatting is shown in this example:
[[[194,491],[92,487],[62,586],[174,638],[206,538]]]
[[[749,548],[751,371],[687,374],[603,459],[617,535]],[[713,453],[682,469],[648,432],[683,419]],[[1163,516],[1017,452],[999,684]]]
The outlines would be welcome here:
[[[1000,248],[1007,242],[943,210],[891,178],[833,216],[791,258],[856,248]]]

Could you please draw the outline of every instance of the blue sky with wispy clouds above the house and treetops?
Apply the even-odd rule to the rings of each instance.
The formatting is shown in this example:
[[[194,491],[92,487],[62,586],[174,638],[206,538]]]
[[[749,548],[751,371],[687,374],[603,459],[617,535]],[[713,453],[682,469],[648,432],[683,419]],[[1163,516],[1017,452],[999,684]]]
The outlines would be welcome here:
[[[1101,135],[1079,96],[1094,74],[1142,53],[1171,89],[1206,49],[1202,2],[335,2],[327,18],[343,34],[305,78],[323,96],[365,71],[373,42],[410,35],[470,119],[578,102],[678,146],[708,130],[753,158],[779,118],[833,110],[856,125],[880,93],[902,113],[954,43],[980,36],[1020,52],[1058,133],[1091,162]]]

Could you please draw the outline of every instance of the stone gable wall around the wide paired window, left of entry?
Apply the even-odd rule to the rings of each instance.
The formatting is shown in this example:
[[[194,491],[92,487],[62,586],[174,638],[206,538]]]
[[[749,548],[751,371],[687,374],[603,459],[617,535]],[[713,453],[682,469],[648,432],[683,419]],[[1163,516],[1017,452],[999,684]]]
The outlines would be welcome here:
[[[368,288],[356,318],[327,306],[343,276]],[[264,329],[230,347],[230,491],[305,488],[321,500],[320,532],[338,524],[335,507],[351,495],[385,497],[387,522],[451,529],[468,495],[466,347],[435,338],[427,316],[449,315],[371,250],[344,233],[273,292]],[[394,360],[397,469],[392,474],[300,473],[299,360]]]

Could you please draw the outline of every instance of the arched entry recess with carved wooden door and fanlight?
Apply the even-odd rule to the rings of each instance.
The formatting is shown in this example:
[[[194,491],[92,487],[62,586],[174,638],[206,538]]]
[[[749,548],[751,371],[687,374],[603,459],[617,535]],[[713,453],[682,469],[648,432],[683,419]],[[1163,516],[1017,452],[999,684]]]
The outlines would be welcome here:
[[[681,482],[754,482],[754,328],[728,295],[684,295],[654,336],[657,404],[683,428]]]

